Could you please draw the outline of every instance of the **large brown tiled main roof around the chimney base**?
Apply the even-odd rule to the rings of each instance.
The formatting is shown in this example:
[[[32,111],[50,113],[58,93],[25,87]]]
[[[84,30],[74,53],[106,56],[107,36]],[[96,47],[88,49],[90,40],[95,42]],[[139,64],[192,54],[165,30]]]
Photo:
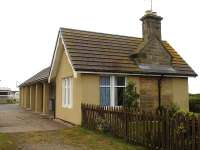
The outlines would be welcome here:
[[[172,57],[171,67],[175,72],[144,71],[130,59],[130,56],[137,51],[138,46],[143,42],[142,38],[67,28],[61,28],[60,32],[76,71],[197,75],[166,41],[163,41],[163,45]]]

